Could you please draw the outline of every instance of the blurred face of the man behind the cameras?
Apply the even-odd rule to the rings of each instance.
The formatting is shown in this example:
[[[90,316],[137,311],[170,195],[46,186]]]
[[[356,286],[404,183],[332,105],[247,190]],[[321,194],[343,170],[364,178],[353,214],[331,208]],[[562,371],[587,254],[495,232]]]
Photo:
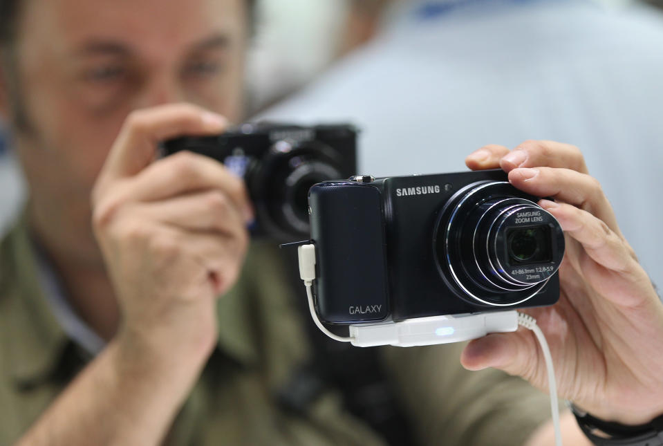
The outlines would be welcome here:
[[[12,96],[33,199],[87,203],[133,109],[185,101],[239,120],[245,28],[245,0],[24,0]]]

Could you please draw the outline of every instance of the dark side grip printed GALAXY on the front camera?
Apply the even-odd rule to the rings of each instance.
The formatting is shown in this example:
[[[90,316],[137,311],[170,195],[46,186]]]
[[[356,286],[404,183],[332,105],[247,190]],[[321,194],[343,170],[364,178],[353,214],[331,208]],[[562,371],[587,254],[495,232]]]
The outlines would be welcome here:
[[[384,320],[390,309],[380,189],[321,183],[310,189],[309,205],[320,319],[336,324]]]

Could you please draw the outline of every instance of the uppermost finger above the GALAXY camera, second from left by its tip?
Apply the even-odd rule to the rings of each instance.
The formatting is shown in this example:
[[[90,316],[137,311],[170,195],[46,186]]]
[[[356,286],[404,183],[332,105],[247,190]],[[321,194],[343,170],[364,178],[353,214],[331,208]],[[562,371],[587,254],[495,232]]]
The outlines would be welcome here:
[[[517,167],[563,167],[587,174],[587,165],[580,149],[554,141],[529,140],[510,151],[500,167],[510,172]]]

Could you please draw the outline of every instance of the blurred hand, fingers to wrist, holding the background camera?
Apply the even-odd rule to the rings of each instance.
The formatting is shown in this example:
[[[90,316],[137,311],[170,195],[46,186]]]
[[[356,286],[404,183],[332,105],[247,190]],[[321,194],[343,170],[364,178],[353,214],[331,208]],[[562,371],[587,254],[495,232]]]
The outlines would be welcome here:
[[[162,140],[224,128],[221,116],[185,104],[132,113],[92,196],[122,310],[118,340],[192,369],[216,341],[214,301],[239,275],[252,211],[243,181],[215,160],[189,152],[153,160]]]

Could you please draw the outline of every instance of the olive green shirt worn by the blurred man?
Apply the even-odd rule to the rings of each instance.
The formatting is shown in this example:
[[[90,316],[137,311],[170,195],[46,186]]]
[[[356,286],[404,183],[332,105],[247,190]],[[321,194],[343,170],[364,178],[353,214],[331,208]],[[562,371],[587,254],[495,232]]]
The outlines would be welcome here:
[[[90,359],[51,313],[30,243],[19,224],[0,245],[0,446],[15,442]],[[306,414],[286,411],[274,397],[312,348],[292,303],[301,293],[286,286],[280,256],[254,243],[243,277],[220,300],[218,349],[176,418],[169,445],[384,444],[379,432],[344,411],[337,391],[325,391]],[[462,347],[380,351],[415,430],[411,444],[521,445],[550,416],[548,397],[498,371],[465,371]]]

